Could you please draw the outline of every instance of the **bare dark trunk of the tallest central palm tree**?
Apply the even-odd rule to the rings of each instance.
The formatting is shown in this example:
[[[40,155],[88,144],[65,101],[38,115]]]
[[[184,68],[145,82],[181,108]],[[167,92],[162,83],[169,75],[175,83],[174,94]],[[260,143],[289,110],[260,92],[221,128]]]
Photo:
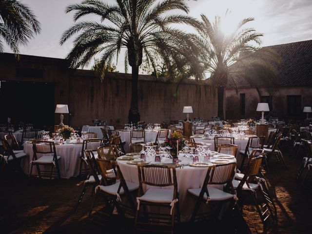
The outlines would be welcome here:
[[[132,95],[128,121],[129,123],[140,121],[140,113],[138,111],[138,66],[132,66]]]

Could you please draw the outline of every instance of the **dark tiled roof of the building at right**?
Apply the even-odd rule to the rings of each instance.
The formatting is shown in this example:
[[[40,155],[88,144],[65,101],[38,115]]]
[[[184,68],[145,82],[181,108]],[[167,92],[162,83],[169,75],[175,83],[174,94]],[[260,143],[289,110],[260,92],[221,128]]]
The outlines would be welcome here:
[[[279,86],[312,85],[312,40],[272,45],[271,49],[279,55],[281,63],[276,66]],[[228,88],[234,88],[229,80]],[[246,80],[241,79],[239,88],[250,87]]]

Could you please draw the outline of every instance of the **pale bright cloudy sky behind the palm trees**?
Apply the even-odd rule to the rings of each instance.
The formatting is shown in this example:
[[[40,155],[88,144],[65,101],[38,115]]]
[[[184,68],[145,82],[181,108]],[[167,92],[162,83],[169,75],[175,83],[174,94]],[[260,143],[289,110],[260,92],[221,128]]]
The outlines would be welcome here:
[[[65,14],[65,8],[81,0],[21,2],[28,5],[37,16],[41,23],[41,33],[26,46],[20,47],[20,54],[64,59],[72,48],[72,40],[60,45],[59,39],[74,24],[74,13]],[[247,26],[264,34],[262,46],[312,39],[312,0],[189,0],[188,5],[191,16],[199,18],[200,14],[204,14],[210,20],[215,16],[224,17],[228,10],[230,14],[222,21],[225,33],[230,33],[240,20],[253,17],[255,20]],[[85,16],[82,19],[98,20],[94,16]],[[4,52],[10,51],[6,48]],[[124,72],[121,60],[118,61],[117,70]]]

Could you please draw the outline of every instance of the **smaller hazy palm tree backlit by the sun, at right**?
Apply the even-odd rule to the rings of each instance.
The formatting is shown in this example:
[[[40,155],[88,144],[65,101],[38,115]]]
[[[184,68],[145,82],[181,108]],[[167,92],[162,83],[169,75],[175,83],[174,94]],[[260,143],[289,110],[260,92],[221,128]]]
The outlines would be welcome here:
[[[201,25],[197,28],[210,58],[207,72],[212,84],[217,88],[218,117],[224,118],[223,99],[228,80],[232,80],[236,89],[237,81],[244,78],[254,87],[266,87],[270,92],[277,81],[274,63],[279,59],[268,49],[259,47],[263,34],[254,28],[242,28],[254,18],[239,22],[234,33],[227,36],[220,27],[220,17],[211,23],[201,15]],[[260,95],[260,91],[257,88]]]

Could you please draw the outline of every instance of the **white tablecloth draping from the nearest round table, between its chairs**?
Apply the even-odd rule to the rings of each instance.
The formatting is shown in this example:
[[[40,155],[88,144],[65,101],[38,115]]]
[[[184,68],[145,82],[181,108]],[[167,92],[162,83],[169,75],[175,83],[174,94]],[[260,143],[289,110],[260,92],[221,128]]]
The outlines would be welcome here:
[[[147,159],[152,161],[151,163],[155,163],[154,159]],[[182,159],[185,163],[187,160],[192,162],[192,158]],[[185,160],[185,161],[184,161]],[[235,159],[233,159],[235,161]],[[162,162],[172,163],[172,159],[162,160]],[[127,164],[125,160],[118,160],[117,163],[120,167],[122,175],[126,180],[138,184],[138,171],[137,165]],[[191,167],[191,166],[183,166],[181,168],[176,168],[176,181],[179,193],[179,206],[180,206],[180,215],[181,221],[189,221],[190,217],[193,213],[193,209],[195,206],[195,199],[190,197],[187,194],[188,189],[200,188],[204,182],[205,176],[207,174],[207,167]],[[213,185],[216,188],[222,189],[222,185]],[[143,188],[145,189],[145,188]],[[164,189],[166,189],[164,187]],[[202,208],[203,206],[201,206]]]

